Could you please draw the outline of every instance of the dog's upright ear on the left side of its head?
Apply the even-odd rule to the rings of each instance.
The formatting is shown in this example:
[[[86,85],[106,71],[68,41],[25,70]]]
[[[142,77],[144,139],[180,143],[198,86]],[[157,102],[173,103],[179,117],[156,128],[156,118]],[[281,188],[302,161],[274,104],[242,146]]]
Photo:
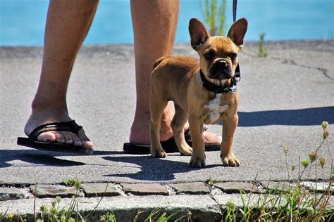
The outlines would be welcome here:
[[[210,37],[206,27],[197,18],[192,18],[189,21],[189,34],[192,48],[194,48],[195,51],[198,51],[199,47],[204,44],[204,41]]]

